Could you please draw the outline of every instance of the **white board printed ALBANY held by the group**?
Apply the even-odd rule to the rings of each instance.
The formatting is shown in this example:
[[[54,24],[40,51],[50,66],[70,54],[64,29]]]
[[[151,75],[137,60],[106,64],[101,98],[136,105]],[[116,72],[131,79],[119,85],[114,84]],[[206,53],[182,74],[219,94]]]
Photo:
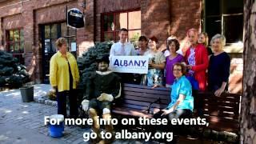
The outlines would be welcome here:
[[[147,56],[112,56],[110,69],[118,73],[147,74],[148,63]]]

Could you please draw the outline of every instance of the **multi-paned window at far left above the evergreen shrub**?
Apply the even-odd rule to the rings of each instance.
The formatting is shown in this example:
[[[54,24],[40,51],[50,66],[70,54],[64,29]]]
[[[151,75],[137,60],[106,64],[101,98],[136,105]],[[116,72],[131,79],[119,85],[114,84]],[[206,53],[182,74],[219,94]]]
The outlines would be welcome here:
[[[24,64],[24,34],[22,29],[6,31],[6,50]]]

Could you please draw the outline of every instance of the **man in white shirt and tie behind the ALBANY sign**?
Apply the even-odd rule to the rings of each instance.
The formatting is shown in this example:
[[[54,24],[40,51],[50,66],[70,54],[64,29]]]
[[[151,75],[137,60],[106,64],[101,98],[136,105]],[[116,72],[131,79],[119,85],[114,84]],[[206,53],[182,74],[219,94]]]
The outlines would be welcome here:
[[[136,55],[136,51],[134,49],[134,45],[130,42],[127,42],[128,38],[128,30],[122,28],[119,31],[120,41],[114,43],[111,46],[110,57],[111,56],[132,56]]]

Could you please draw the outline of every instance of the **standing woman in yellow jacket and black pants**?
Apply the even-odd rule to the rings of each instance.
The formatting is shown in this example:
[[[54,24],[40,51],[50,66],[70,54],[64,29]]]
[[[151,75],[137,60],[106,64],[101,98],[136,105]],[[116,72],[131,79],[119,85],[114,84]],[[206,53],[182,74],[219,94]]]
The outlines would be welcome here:
[[[66,118],[66,96],[70,100],[70,117],[78,116],[77,96],[74,90],[78,86],[79,71],[76,59],[67,52],[65,38],[58,38],[58,52],[50,58],[50,85],[56,90],[58,114]]]

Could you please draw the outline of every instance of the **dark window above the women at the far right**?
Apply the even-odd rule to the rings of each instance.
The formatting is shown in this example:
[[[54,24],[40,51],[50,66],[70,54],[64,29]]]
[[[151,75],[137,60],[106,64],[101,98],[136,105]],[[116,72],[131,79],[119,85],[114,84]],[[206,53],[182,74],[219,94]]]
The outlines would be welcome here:
[[[205,0],[205,15],[205,30],[210,38],[224,34],[227,44],[242,42],[242,0]]]

